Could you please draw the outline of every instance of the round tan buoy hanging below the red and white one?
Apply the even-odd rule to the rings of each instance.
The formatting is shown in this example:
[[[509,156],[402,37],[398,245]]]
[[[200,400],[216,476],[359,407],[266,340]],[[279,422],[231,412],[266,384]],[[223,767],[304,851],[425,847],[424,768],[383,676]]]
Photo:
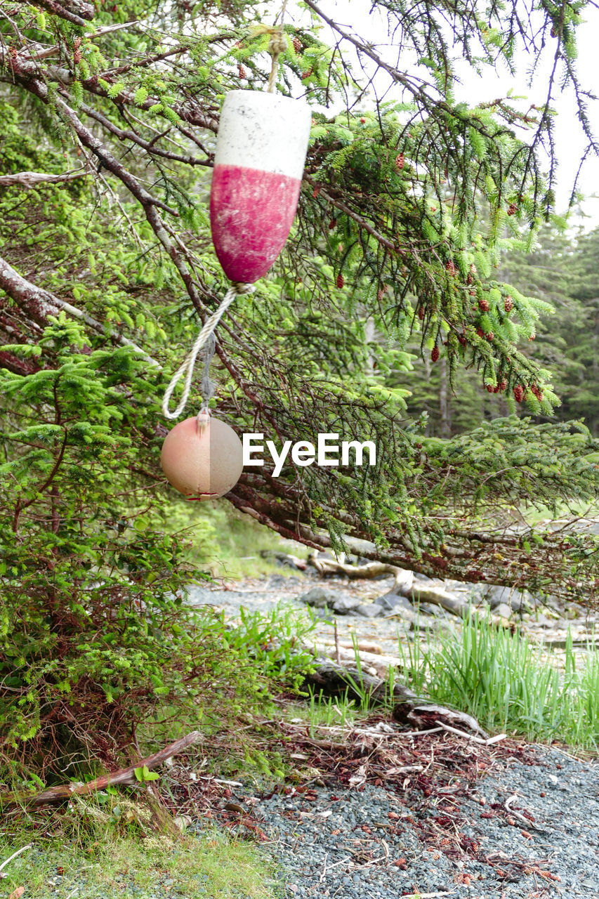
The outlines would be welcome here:
[[[233,428],[219,418],[194,415],[166,435],[161,464],[168,483],[188,499],[218,499],[241,476],[243,447]]]

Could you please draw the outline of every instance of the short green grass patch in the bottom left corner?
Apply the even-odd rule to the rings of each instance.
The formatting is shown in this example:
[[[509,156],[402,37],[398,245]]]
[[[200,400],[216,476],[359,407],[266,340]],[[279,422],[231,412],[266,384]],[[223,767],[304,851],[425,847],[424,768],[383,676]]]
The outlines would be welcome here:
[[[113,806],[117,807],[118,806]],[[76,816],[76,813],[74,813]],[[74,814],[69,811],[70,825]],[[98,809],[101,816],[103,811]],[[60,827],[60,825],[58,825]],[[36,835],[31,826],[0,836],[1,895],[24,886],[22,899],[273,899],[273,866],[254,844],[214,832],[181,840],[114,833],[98,820],[85,834]],[[32,835],[33,834],[33,835]]]

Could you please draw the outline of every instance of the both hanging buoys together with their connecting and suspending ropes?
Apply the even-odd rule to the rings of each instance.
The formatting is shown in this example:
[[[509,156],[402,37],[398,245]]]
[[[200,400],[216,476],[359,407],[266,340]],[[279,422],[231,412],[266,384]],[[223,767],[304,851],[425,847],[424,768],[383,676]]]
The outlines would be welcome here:
[[[272,267],[289,236],[298,206],[311,113],[306,102],[273,93],[277,61],[285,46],[282,31],[273,31],[269,90],[231,91],[220,116],[210,191],[210,229],[219,263],[232,284],[175,372],[162,405],[166,418],[177,418],[183,412],[195,361],[206,349],[200,413],[175,425],[162,449],[166,479],[188,499],[223,496],[237,484],[243,470],[237,434],[228,424],[210,416],[208,403],[214,387],[209,367],[220,318],[238,295],[251,293],[255,281]],[[171,412],[170,398],[183,376],[183,397]]]

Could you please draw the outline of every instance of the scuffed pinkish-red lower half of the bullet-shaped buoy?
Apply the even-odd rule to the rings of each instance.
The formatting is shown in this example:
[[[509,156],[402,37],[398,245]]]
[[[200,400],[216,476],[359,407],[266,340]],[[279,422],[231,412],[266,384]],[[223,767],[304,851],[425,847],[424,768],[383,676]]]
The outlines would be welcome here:
[[[215,165],[210,227],[229,280],[253,284],[271,268],[289,236],[301,180],[241,165]]]

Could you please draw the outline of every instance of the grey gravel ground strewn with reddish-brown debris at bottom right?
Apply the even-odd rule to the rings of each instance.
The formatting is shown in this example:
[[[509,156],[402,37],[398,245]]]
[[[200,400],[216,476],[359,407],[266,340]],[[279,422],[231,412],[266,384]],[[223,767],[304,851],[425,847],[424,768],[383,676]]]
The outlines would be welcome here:
[[[251,806],[287,899],[595,899],[599,766],[542,747],[525,756],[440,789],[412,774],[234,798]]]

